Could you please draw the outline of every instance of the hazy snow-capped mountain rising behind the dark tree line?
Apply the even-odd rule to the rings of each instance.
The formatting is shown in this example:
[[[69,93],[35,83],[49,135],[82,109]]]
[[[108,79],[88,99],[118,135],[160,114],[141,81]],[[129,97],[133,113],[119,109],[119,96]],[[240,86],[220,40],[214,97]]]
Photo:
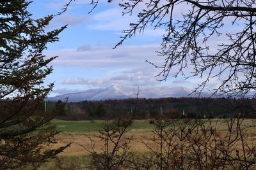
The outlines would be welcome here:
[[[191,94],[193,89],[186,87],[140,87],[140,98],[161,98],[161,97],[198,97],[195,94]],[[112,85],[106,89],[90,89],[85,92],[64,94],[56,97],[49,97],[49,101],[64,101],[68,97],[70,102],[78,101],[99,101],[106,99],[128,99],[136,97],[138,93],[138,87],[127,85]],[[188,96],[191,94],[190,96]],[[210,94],[203,93],[201,97],[209,97]]]

